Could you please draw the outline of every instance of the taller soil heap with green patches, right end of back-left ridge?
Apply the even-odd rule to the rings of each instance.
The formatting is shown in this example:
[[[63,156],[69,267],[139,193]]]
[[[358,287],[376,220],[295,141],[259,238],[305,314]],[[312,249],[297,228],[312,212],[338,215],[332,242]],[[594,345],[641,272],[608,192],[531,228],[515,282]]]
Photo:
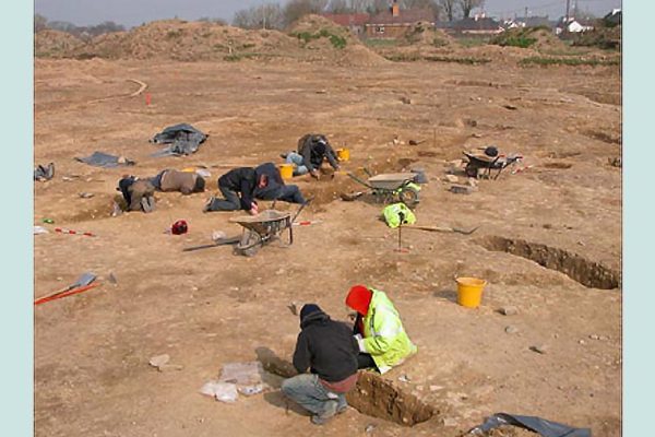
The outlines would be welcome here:
[[[348,28],[319,15],[301,17],[290,26],[289,35],[298,38],[306,51],[303,57],[309,61],[346,67],[374,67],[388,62],[365,47]]]

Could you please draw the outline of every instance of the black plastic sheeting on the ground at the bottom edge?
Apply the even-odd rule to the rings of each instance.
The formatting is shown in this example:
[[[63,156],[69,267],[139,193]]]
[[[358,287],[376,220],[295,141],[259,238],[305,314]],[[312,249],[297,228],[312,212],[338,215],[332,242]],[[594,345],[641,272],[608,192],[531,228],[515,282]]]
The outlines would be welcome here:
[[[497,428],[502,425],[514,425],[534,433],[538,433],[544,437],[592,437],[590,428],[572,428],[569,425],[550,422],[536,416],[521,416],[516,414],[496,413],[481,425],[471,429],[468,434],[487,433],[489,429]]]

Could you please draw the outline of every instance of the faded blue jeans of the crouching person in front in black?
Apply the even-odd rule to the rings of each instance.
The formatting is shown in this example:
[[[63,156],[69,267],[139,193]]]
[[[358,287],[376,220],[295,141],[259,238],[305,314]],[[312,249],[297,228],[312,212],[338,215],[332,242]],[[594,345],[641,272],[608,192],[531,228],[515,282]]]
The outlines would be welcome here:
[[[282,391],[305,410],[324,418],[332,417],[348,405],[345,394],[331,392],[319,381],[318,375],[313,374],[285,379]]]

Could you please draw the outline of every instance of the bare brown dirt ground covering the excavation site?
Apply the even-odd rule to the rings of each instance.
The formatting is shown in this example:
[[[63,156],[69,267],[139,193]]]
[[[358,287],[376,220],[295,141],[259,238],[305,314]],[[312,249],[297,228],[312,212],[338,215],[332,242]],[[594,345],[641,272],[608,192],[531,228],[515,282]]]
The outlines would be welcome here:
[[[35,60],[35,165],[56,165],[53,179],[35,182],[34,223],[50,229],[34,237],[35,297],[86,271],[102,283],[35,307],[35,435],[454,437],[505,412],[620,436],[621,168],[609,164],[621,155],[620,81],[618,67],[497,60]],[[132,95],[139,83],[147,88]],[[191,156],[152,157],[148,139],[179,122],[209,140]],[[345,174],[295,180],[315,196],[298,217],[312,224],[253,257],[182,251],[241,232],[228,222],[239,213],[202,212],[210,192],[157,193],[155,212],[111,216],[124,173],[203,165],[215,192],[231,166],[281,163],[307,132],[350,149],[347,172],[422,167],[417,224],[479,228],[405,229],[406,250],[395,251],[381,204],[340,199],[366,190]],[[450,192],[451,162],[489,144],[524,160],[471,194]],[[136,165],[74,161],[94,151]],[[189,233],[167,234],[179,218]],[[479,308],[456,304],[454,276],[488,281]],[[388,293],[419,350],[382,380],[366,376],[358,409],[317,427],[273,382],[233,404],[199,393],[227,363],[288,362],[299,330],[288,306],[313,302],[347,320],[357,283]],[[162,354],[166,371],[148,365]]]

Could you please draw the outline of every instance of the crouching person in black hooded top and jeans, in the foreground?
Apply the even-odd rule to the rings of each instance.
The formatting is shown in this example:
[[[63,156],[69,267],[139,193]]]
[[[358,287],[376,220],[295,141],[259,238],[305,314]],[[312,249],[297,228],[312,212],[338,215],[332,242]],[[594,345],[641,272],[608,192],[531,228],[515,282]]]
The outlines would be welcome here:
[[[318,305],[302,307],[300,329],[294,352],[300,375],[285,379],[282,391],[312,413],[312,423],[322,425],[348,406],[346,393],[357,383],[359,349],[350,328],[330,319]]]

